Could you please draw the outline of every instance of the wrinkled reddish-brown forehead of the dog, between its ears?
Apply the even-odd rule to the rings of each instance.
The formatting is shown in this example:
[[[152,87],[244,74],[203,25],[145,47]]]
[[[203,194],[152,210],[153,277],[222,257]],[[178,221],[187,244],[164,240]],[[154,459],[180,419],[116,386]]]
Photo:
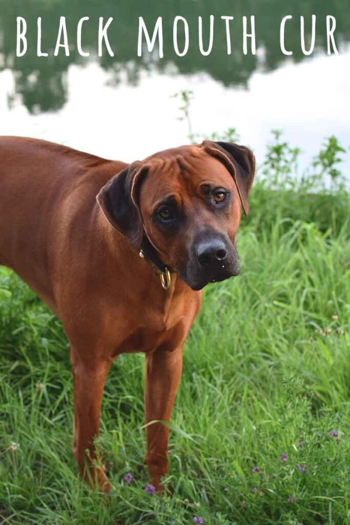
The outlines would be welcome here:
[[[201,184],[234,191],[235,184],[224,164],[198,146],[185,146],[161,152],[146,159],[149,166],[141,188],[144,204],[160,201],[166,195],[195,195]]]

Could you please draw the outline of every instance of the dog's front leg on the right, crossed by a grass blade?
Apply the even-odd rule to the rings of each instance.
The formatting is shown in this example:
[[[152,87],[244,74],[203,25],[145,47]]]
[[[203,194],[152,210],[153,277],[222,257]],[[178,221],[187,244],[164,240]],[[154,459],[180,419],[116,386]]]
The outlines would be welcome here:
[[[182,345],[173,351],[158,348],[146,354],[145,419],[150,483],[162,491],[161,477],[167,472],[169,421],[182,371]],[[149,424],[151,423],[151,424]]]

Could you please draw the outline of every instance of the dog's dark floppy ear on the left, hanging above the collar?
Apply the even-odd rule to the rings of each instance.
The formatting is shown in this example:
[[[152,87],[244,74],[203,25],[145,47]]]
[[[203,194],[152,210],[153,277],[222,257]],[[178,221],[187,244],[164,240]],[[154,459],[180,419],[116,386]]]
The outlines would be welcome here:
[[[147,166],[134,162],[114,175],[96,197],[111,225],[128,237],[135,248],[141,246],[143,236],[138,200],[140,185],[146,173]]]

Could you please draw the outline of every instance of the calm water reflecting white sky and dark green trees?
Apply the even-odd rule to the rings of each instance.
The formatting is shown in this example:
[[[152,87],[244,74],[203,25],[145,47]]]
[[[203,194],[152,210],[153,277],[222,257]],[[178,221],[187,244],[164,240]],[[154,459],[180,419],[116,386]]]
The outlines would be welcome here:
[[[323,139],[336,135],[350,145],[350,10],[336,0],[257,0],[229,2],[215,7],[206,1],[152,3],[142,0],[0,0],[0,134],[29,135],[64,143],[108,158],[133,161],[154,151],[188,142],[186,120],[179,120],[181,101],[175,92],[194,92],[190,119],[194,133],[211,134],[235,127],[242,143],[250,145],[262,162],[271,129],[283,129],[291,145],[303,151],[301,167],[319,151]],[[310,57],[300,46],[300,15],[305,17],[306,46],[311,15],[317,15],[316,46]],[[198,15],[203,17],[204,46],[209,15],[215,16],[214,45],[209,56],[198,50]],[[281,53],[279,25],[287,23]],[[70,56],[53,56],[59,18],[67,18]],[[186,18],[189,49],[178,57],[173,49],[173,20]],[[227,55],[225,23],[232,15],[232,54]],[[255,15],[257,55],[242,52],[242,16]],[[327,56],[325,17],[336,17],[339,55]],[[16,16],[28,24],[28,51],[16,57]],[[36,56],[36,19],[42,17],[42,49]],[[76,30],[84,24],[79,56]],[[113,17],[108,31],[114,57],[97,56],[99,17]],[[137,57],[138,17],[154,27],[163,17],[164,58],[154,52]],[[180,26],[179,26],[180,27]],[[179,48],[183,38],[179,31]],[[249,47],[248,47],[249,50]],[[347,153],[343,171],[349,172]]]

